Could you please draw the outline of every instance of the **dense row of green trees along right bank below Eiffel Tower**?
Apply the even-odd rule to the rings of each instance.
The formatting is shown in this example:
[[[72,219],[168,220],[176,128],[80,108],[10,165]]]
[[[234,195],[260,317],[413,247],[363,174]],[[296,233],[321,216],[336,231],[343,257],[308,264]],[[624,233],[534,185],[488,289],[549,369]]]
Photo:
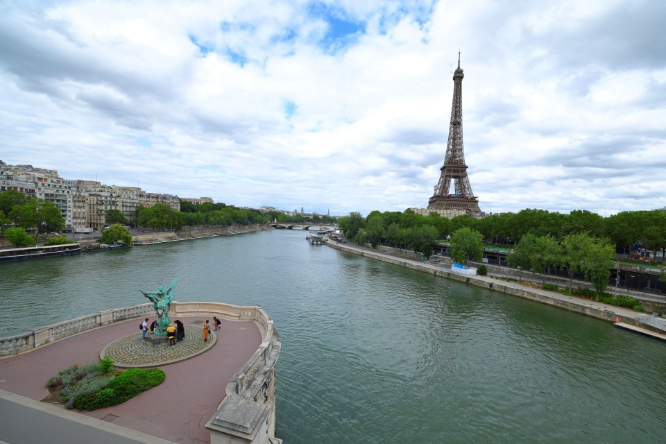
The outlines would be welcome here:
[[[632,246],[653,251],[666,248],[666,212],[621,212],[604,218],[586,210],[570,214],[526,209],[483,219],[468,215],[447,219],[404,212],[373,211],[366,218],[352,212],[339,220],[346,237],[373,248],[385,244],[409,248],[426,257],[432,246],[448,241],[454,262],[466,264],[483,257],[484,244],[508,246],[510,266],[545,275],[549,268],[565,271],[570,280],[583,273],[597,290],[606,290],[615,253]],[[545,281],[545,277],[544,277]]]

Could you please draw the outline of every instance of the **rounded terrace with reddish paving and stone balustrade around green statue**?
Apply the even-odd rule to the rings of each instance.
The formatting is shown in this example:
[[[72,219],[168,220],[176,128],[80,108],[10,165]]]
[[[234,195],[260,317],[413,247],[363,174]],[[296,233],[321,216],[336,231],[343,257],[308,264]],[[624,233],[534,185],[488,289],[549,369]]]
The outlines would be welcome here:
[[[260,307],[173,302],[185,339],[142,340],[152,304],[101,311],[0,339],[0,443],[281,443],[275,438],[280,338]],[[214,330],[213,316],[221,320]],[[203,341],[203,324],[211,334]],[[148,333],[150,335],[150,333]],[[108,355],[119,368],[160,367],[160,386],[113,407],[67,410],[46,381]]]

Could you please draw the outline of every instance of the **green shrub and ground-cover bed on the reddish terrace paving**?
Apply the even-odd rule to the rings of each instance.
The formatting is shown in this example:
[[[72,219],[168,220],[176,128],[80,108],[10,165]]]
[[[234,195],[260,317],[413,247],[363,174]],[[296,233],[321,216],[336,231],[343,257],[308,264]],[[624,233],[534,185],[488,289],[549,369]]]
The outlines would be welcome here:
[[[46,386],[58,391],[67,409],[95,410],[121,404],[164,381],[159,368],[114,369],[105,357],[97,364],[71,366],[51,377]]]

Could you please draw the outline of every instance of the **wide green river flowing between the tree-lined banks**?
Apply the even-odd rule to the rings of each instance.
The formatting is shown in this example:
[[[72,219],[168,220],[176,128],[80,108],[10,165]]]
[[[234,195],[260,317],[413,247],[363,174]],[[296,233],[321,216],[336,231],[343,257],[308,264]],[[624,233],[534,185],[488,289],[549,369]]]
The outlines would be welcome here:
[[[276,434],[311,443],[663,443],[666,344],[275,230],[0,264],[0,337],[146,302],[261,305]]]

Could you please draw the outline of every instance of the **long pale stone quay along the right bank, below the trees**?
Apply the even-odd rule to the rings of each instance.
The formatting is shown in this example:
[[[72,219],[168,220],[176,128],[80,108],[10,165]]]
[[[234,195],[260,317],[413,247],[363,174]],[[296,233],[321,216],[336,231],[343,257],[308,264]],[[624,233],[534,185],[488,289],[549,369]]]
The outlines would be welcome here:
[[[633,327],[644,330],[644,332],[646,332],[645,334],[653,332],[653,329],[666,332],[666,321],[622,307],[615,307],[602,302],[567,296],[541,288],[527,287],[518,282],[505,281],[492,276],[460,275],[452,272],[450,268],[446,268],[445,264],[420,262],[418,259],[400,257],[398,255],[373,250],[372,248],[360,247],[355,244],[340,244],[328,238],[325,239],[325,245],[355,255],[370,257],[394,265],[404,266],[405,268],[431,273],[436,276],[441,276],[442,278],[466,282],[468,284],[476,285],[477,287],[484,287],[486,289],[498,291],[499,293],[542,302],[568,311],[575,311],[603,321],[632,325]]]

